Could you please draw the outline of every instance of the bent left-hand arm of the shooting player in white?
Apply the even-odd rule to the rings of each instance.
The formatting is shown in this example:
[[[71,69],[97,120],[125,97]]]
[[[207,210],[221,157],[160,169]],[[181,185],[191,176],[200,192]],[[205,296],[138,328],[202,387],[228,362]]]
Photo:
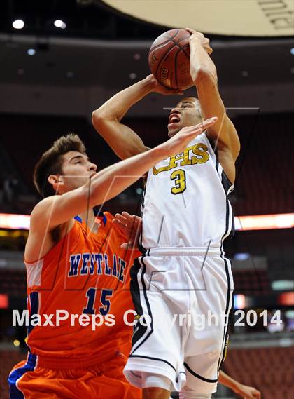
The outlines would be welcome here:
[[[164,88],[153,75],[149,75],[120,91],[92,113],[94,128],[120,159],[130,158],[148,149],[139,135],[120,121],[130,107],[151,92],[165,95],[178,94],[176,90]]]

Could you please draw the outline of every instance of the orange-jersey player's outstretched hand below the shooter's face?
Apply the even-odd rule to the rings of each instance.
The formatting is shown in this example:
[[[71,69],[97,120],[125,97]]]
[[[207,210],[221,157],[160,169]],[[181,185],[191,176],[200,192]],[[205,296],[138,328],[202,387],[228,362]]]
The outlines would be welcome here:
[[[167,140],[167,142],[161,144],[164,146],[165,155],[172,156],[183,152],[194,137],[201,135],[204,130],[214,125],[217,120],[217,117],[213,116],[202,123],[198,123],[194,126],[185,126],[179,130],[179,133],[176,133],[171,139]]]

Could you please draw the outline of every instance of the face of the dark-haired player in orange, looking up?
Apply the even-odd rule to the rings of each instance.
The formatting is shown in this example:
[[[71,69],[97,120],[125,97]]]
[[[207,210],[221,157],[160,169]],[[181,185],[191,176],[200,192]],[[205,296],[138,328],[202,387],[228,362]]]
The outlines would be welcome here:
[[[96,175],[96,173],[97,165],[90,162],[87,155],[78,151],[69,151],[63,155],[62,174],[55,176],[57,181],[53,182],[58,185],[56,189],[62,194],[83,186],[83,184],[86,184],[89,178]],[[53,177],[52,175],[49,176],[49,181],[51,183]]]

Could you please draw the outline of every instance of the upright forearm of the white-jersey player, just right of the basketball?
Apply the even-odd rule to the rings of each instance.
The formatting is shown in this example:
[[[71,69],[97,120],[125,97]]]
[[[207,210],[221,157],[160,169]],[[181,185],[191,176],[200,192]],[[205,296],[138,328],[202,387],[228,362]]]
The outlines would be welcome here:
[[[190,40],[190,74],[196,86],[203,76],[212,77],[217,83],[216,65],[197,38]]]

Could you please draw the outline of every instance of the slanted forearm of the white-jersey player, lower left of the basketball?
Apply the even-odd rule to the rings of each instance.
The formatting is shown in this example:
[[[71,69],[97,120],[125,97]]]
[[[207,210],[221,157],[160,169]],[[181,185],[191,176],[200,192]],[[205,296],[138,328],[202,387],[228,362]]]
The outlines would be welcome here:
[[[145,79],[134,83],[134,85],[125,88],[111,97],[102,107],[93,112],[93,117],[96,114],[96,116],[102,116],[104,119],[116,119],[116,121],[120,121],[130,107],[151,93],[152,89],[151,76],[147,76]]]

